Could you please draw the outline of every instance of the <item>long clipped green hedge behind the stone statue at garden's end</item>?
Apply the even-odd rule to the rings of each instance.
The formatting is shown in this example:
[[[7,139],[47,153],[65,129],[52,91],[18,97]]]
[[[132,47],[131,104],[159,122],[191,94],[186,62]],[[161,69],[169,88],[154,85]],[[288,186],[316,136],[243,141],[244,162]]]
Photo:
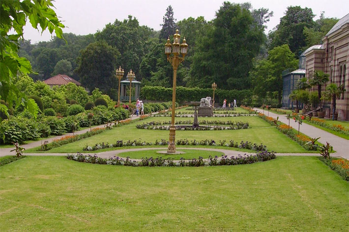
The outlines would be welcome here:
[[[219,103],[223,103],[224,99],[233,101],[236,99],[238,103],[241,103],[244,99],[250,98],[253,95],[251,90],[221,90],[215,91],[215,99],[219,100]],[[207,96],[213,97],[212,89],[201,88],[187,88],[182,86],[176,87],[176,101],[200,101]],[[141,88],[141,99],[147,100],[172,100],[172,88],[165,88],[161,86],[144,86]],[[216,102],[218,102],[215,100]]]

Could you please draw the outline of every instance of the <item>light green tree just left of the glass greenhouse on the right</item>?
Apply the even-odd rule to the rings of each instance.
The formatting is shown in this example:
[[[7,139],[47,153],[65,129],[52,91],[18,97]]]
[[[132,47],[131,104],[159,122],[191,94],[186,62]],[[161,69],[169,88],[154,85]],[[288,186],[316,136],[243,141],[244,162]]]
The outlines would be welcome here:
[[[281,105],[282,71],[287,68],[296,68],[297,64],[288,44],[270,50],[268,58],[260,61],[251,72],[256,94],[263,97],[266,90],[277,91],[278,104]]]

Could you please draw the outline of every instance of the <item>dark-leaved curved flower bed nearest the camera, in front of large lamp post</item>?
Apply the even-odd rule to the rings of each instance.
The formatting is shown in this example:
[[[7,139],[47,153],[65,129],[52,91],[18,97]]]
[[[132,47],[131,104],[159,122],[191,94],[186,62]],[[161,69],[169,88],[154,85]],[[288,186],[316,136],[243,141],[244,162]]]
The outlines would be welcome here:
[[[128,157],[122,159],[120,157],[110,157],[110,158],[100,158],[96,154],[92,155],[83,155],[83,154],[68,154],[67,159],[91,163],[91,164],[101,164],[101,165],[119,165],[119,166],[223,166],[223,165],[244,165],[244,164],[253,164],[256,162],[264,162],[268,160],[273,160],[276,158],[274,152],[263,151],[257,153],[256,155],[244,155],[237,157],[222,156],[218,158],[210,157],[207,160],[204,160],[203,157],[199,159],[185,160],[181,158],[179,161],[174,161],[173,159],[162,159],[161,157],[157,158],[143,158],[142,161],[131,161]]]

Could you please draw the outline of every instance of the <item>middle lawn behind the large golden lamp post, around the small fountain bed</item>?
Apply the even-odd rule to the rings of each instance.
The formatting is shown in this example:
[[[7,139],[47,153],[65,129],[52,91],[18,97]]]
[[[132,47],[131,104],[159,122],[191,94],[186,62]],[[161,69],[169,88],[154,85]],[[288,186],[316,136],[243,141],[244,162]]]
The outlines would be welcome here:
[[[140,122],[139,124],[149,121],[170,121],[170,117],[150,117]],[[178,120],[193,120],[193,118],[176,118]],[[280,153],[309,153],[295,141],[291,140],[285,134],[279,132],[276,127],[270,126],[267,122],[260,119],[257,116],[240,116],[240,117],[225,117],[225,118],[201,118],[200,120],[221,120],[221,121],[243,121],[249,122],[250,129],[243,130],[224,130],[224,131],[176,131],[176,139],[188,139],[188,140],[204,140],[213,139],[217,142],[219,140],[234,140],[240,143],[243,141],[250,141],[257,144],[264,144],[268,150],[280,152]],[[156,139],[169,138],[169,131],[160,130],[142,130],[137,129],[136,124],[132,123],[119,128],[113,128],[110,131],[106,131],[95,136],[82,139],[76,142],[65,144],[63,146],[51,149],[45,153],[75,153],[83,152],[83,147],[86,145],[93,146],[97,142],[109,142],[115,143],[116,140],[134,140],[142,139],[142,141],[155,142]],[[26,150],[26,153],[36,153],[37,148],[31,148]],[[99,150],[100,152],[102,150]],[[316,151],[314,151],[316,152]]]

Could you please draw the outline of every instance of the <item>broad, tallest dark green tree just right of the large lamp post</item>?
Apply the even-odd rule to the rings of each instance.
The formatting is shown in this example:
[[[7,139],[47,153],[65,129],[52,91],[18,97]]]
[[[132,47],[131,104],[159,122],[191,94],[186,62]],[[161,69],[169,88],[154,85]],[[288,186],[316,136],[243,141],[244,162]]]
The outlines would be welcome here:
[[[213,27],[196,43],[188,85],[206,88],[216,82],[222,89],[249,88],[248,72],[263,41],[262,30],[254,25],[250,11],[224,2]]]

